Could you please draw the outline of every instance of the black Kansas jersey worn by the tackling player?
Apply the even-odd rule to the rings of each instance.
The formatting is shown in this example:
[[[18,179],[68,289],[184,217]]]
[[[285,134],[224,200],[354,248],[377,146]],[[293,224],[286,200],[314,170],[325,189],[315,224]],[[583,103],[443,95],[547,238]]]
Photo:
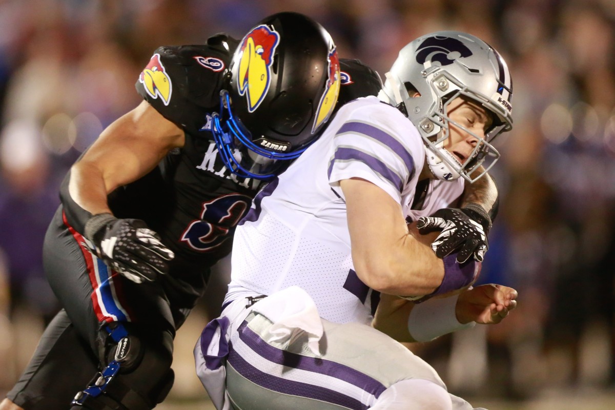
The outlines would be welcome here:
[[[205,274],[231,251],[235,226],[264,184],[239,178],[224,167],[211,133],[212,113],[220,109],[224,70],[238,43],[218,34],[205,45],[160,47],[154,52],[140,74],[137,91],[183,128],[185,146],[109,198],[117,217],[143,219],[161,235],[175,253],[170,275],[187,282],[199,280],[190,277]],[[341,104],[380,89],[378,74],[360,61],[341,60],[341,69]]]

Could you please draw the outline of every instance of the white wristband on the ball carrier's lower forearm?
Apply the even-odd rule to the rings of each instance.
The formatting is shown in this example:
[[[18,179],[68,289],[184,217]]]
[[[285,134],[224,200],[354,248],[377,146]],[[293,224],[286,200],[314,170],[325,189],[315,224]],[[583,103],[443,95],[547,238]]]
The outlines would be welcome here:
[[[455,313],[459,295],[431,299],[415,305],[408,317],[408,332],[417,342],[429,342],[438,336],[461,329],[472,328],[475,321],[459,323]]]

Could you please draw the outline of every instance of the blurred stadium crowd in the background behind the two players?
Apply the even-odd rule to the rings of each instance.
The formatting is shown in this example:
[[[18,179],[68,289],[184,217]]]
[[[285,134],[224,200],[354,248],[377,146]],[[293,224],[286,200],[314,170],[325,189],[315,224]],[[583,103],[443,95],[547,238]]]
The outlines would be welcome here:
[[[459,395],[613,392],[615,1],[0,0],[0,393],[58,309],[41,247],[60,181],[140,102],[134,84],[153,50],[240,38],[282,10],[315,18],[341,57],[383,78],[403,45],[436,30],[475,34],[506,58],[515,124],[495,143],[501,205],[480,280],[514,286],[519,306],[501,325],[411,349]],[[196,379],[196,317],[180,331],[175,400],[205,395],[185,381]]]

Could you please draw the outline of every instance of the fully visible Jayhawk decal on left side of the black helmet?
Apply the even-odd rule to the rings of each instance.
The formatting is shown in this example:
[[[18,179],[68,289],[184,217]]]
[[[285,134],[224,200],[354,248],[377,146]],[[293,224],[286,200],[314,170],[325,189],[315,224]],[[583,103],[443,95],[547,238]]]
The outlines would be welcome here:
[[[250,31],[239,46],[239,75],[237,89],[239,95],[248,100],[248,111],[254,112],[263,102],[271,85],[271,65],[273,55],[280,42],[280,35],[266,25]]]

